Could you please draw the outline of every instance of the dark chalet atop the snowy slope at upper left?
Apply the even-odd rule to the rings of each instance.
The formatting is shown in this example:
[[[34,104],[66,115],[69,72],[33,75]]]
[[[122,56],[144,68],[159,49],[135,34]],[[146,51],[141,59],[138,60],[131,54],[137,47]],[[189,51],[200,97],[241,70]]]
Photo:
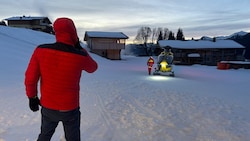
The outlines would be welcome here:
[[[5,19],[8,26],[29,28],[33,30],[43,31],[47,33],[53,33],[51,21],[48,17],[10,17]]]

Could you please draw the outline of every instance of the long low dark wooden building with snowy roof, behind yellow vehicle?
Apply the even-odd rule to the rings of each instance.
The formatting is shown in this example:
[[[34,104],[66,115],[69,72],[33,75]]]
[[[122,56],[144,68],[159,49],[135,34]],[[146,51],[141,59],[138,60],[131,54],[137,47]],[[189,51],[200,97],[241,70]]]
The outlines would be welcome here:
[[[220,61],[244,60],[245,47],[233,40],[160,40],[158,44],[172,48],[176,64],[217,65]]]

